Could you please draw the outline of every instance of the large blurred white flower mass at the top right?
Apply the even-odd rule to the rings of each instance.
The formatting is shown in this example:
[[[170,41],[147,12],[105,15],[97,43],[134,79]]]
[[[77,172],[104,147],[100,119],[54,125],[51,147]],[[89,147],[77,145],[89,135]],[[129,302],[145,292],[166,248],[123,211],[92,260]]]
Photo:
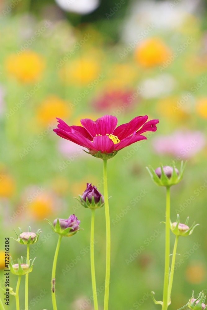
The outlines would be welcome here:
[[[185,22],[189,13],[196,10],[200,2],[201,0],[133,1],[122,27],[124,42],[129,43],[136,40],[138,34],[145,31],[149,24],[153,24],[153,29],[156,31],[177,28]]]

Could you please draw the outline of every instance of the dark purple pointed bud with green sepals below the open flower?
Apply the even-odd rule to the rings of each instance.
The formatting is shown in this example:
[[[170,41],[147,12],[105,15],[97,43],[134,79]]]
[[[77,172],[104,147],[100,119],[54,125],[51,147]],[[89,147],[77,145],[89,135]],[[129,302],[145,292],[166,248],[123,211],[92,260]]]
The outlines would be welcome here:
[[[104,197],[92,183],[87,183],[86,190],[82,196],[79,195],[80,202],[85,208],[101,208],[104,205]]]

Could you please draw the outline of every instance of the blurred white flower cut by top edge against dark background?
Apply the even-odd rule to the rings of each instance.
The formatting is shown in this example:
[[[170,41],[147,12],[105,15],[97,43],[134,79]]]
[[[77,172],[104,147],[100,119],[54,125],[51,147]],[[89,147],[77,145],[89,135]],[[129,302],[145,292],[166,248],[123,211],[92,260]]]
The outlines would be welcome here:
[[[99,0],[55,0],[64,11],[89,14],[97,9]]]

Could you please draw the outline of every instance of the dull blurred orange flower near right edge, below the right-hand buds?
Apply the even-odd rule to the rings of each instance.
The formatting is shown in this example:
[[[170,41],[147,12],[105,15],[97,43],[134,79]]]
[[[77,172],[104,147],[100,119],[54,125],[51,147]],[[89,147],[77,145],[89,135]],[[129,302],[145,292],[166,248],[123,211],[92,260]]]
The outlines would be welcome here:
[[[186,269],[187,281],[192,284],[197,284],[205,280],[205,268],[200,262],[195,262]]]

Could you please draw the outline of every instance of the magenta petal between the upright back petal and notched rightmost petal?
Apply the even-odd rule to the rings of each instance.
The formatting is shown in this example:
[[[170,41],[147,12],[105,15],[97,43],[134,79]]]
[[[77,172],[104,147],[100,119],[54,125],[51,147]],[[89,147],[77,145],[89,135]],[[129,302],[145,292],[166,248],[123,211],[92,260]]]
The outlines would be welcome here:
[[[148,116],[137,116],[128,122],[125,127],[123,125],[118,126],[113,135],[118,136],[119,140],[122,140],[130,136],[134,131],[137,131],[147,121]]]

